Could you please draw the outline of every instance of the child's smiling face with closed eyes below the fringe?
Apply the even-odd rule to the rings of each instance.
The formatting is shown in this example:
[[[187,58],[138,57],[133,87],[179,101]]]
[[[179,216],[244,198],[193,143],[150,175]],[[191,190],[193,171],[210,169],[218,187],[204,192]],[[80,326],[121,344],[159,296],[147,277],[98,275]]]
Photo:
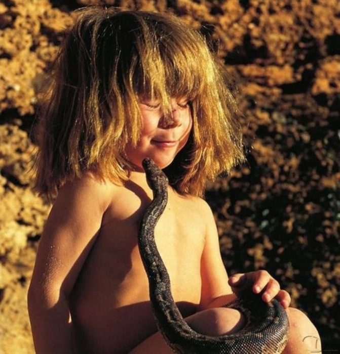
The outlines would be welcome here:
[[[136,147],[128,145],[126,158],[142,169],[142,160],[152,158],[165,168],[185,146],[192,128],[190,105],[186,98],[171,99],[172,114],[164,115],[157,100],[139,102],[142,130]]]

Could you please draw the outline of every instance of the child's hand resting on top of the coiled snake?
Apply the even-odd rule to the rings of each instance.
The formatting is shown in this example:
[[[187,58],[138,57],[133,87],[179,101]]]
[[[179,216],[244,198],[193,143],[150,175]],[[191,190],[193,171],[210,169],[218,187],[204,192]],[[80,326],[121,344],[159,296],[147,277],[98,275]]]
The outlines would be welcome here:
[[[280,284],[267,271],[234,274],[228,283],[236,295],[252,290],[255,294],[262,292],[261,297],[265,302],[276,298],[284,308],[290,304],[287,291],[280,290]]]

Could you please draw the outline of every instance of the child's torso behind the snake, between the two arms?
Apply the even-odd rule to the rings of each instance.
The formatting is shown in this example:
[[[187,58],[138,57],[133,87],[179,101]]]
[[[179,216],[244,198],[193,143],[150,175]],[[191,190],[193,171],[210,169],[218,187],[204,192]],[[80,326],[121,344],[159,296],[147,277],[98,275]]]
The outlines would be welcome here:
[[[70,296],[81,352],[127,352],[157,331],[137,247],[139,221],[150,198],[146,185],[132,181],[112,188],[98,237]],[[205,217],[200,209],[199,198],[170,189],[155,233],[183,316],[193,314],[201,298]]]

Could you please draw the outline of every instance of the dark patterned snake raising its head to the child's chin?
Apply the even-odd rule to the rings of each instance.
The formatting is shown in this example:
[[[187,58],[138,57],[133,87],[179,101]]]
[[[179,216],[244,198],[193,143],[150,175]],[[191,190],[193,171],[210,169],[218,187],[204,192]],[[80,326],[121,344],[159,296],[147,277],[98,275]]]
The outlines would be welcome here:
[[[185,322],[172,297],[169,274],[155,242],[155,226],[168,202],[168,179],[152,159],[145,158],[142,166],[153,199],[141,218],[138,249],[148,278],[155,321],[168,346],[173,352],[187,354],[281,353],[288,341],[289,322],[276,299],[265,302],[249,291],[226,303],[225,307],[235,308],[245,317],[243,328],[233,334],[204,335]]]

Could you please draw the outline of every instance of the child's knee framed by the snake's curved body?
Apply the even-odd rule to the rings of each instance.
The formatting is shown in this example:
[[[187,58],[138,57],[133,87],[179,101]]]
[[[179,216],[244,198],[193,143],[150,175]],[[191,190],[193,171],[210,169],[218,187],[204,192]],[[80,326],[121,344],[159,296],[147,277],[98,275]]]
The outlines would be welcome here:
[[[233,308],[216,307],[201,311],[186,319],[195,331],[220,336],[238,332],[245,324],[243,315]]]

